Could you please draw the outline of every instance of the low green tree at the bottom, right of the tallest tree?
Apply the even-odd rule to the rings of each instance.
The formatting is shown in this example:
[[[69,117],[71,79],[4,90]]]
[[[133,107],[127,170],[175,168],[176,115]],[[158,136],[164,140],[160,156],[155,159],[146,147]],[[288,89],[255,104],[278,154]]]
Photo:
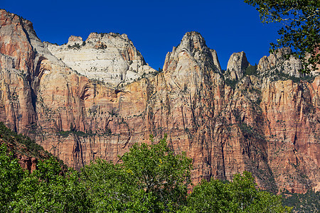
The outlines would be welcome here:
[[[233,182],[203,180],[188,195],[184,212],[290,212],[281,197],[256,189],[251,173],[235,175]]]

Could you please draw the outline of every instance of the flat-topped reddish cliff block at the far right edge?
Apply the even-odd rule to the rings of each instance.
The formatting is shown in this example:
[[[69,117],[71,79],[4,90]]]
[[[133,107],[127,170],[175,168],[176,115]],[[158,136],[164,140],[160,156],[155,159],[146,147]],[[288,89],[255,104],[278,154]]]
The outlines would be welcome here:
[[[314,88],[292,80],[262,84],[269,165],[279,187],[292,192],[305,192],[310,180],[319,180],[320,93]]]

